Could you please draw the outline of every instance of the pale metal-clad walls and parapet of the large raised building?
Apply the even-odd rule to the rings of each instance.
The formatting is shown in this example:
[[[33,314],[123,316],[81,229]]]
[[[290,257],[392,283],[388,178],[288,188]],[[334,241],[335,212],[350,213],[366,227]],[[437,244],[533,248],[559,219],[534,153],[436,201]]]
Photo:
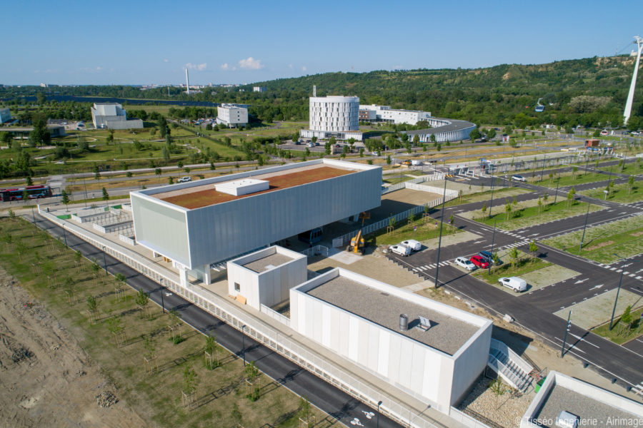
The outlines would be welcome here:
[[[337,163],[344,168],[361,170],[203,208],[186,210],[176,207],[185,211],[186,225],[176,218],[176,212],[169,212],[172,209],[167,206],[171,204],[151,197],[154,193],[168,190],[167,187],[132,192],[136,241],[189,269],[200,269],[206,264],[226,260],[380,205],[382,168],[340,161],[296,163],[183,183],[176,188],[301,168],[322,161],[329,166]],[[144,203],[139,207],[142,200]]]

